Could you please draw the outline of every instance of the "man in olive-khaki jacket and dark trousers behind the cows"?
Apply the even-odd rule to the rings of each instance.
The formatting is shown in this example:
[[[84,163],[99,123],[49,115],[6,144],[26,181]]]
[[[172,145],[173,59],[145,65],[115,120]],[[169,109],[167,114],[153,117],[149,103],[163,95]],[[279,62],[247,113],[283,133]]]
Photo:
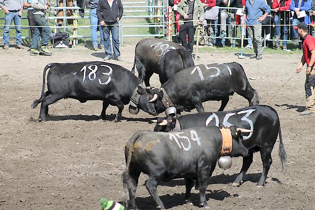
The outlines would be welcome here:
[[[198,15],[200,15],[199,21],[203,22],[205,14],[204,7],[200,0],[181,0],[178,4],[177,12],[181,15],[179,17],[180,41],[192,55],[192,48],[194,44],[193,36],[195,34],[196,26],[198,25]],[[186,36],[188,36],[188,44]]]

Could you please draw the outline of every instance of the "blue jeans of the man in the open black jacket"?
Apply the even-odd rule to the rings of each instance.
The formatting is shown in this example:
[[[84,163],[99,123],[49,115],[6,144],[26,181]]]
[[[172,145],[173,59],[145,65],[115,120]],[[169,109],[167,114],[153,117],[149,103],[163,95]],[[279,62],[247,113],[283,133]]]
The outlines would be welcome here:
[[[110,32],[112,40],[112,49],[114,51],[114,58],[116,59],[118,56],[120,56],[118,23],[115,23],[110,26],[105,26],[103,28],[105,56],[111,58]]]

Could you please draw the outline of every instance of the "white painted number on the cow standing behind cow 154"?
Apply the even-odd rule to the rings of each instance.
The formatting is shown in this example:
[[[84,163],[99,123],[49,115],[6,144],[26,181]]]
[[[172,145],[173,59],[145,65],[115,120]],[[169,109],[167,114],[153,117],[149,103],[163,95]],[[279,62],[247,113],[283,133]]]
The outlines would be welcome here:
[[[250,129],[251,130],[254,130],[254,125],[252,123],[252,120],[248,119],[248,117],[252,114],[252,112],[254,112],[255,109],[246,109],[246,110],[243,110],[243,111],[240,111],[240,112],[237,112],[237,113],[227,113],[224,118],[223,118],[223,122],[222,124],[225,126],[225,127],[230,127],[232,126],[233,124],[228,122],[229,118],[233,115],[241,115],[241,114],[244,114],[246,113],[243,117],[241,117],[241,121],[245,121],[247,122],[249,125],[250,125]],[[212,115],[210,115],[207,120],[205,120],[205,126],[208,126],[208,124],[213,120],[215,119],[215,122],[216,122],[216,126],[219,127],[219,117],[216,113],[213,113]],[[252,132],[250,133],[250,135],[248,136],[243,136],[243,139],[246,140],[246,139],[249,139],[250,137],[252,136]]]

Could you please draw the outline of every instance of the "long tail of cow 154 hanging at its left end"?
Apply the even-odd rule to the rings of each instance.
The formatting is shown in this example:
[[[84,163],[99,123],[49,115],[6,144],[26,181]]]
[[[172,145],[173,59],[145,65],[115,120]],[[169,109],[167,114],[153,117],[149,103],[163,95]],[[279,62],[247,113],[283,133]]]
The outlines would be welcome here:
[[[127,185],[129,185],[129,167],[130,167],[130,162],[131,162],[131,155],[132,155],[132,148],[134,143],[136,142],[136,140],[140,137],[140,133],[137,132],[134,135],[131,136],[131,138],[128,140],[129,143],[129,150],[128,150],[128,157],[126,160],[126,169],[124,171],[124,173],[122,174],[122,180],[123,180],[123,191],[122,191],[122,201],[124,203],[124,206],[127,207],[128,206],[128,189],[127,189]]]

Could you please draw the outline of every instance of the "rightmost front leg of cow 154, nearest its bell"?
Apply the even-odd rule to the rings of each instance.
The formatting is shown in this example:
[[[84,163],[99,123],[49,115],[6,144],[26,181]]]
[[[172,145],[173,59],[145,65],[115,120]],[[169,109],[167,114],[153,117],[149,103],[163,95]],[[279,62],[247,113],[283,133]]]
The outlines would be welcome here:
[[[200,206],[204,208],[209,208],[205,199],[205,191],[207,189],[208,179],[213,172],[212,168],[214,169],[214,167],[212,166],[203,166],[198,171]],[[211,170],[210,174],[209,174],[209,170]]]

